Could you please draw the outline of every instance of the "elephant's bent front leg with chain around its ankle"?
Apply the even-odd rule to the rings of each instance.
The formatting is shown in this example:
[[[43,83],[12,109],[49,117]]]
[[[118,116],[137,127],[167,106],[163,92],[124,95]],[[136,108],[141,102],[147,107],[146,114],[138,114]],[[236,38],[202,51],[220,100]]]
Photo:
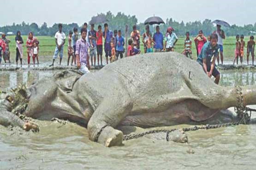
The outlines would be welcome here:
[[[88,123],[89,138],[106,147],[122,144],[123,133],[115,130],[122,119],[131,111],[130,96],[119,91],[105,98],[93,113]]]

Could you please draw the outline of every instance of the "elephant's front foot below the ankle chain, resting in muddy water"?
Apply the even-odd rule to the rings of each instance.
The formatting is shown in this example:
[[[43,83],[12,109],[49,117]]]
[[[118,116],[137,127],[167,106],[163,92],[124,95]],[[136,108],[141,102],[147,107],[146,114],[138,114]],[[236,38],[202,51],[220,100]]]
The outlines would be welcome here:
[[[101,131],[98,142],[106,147],[120,146],[123,142],[123,132],[115,130],[111,126],[106,126]]]

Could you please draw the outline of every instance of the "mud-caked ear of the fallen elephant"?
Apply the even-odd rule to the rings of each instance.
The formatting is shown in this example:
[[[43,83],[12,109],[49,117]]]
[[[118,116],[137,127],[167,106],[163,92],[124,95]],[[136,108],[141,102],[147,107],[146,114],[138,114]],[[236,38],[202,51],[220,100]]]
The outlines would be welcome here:
[[[59,85],[59,87],[66,91],[67,93],[71,92],[74,84],[82,74],[75,70],[65,70],[54,74],[55,83]]]

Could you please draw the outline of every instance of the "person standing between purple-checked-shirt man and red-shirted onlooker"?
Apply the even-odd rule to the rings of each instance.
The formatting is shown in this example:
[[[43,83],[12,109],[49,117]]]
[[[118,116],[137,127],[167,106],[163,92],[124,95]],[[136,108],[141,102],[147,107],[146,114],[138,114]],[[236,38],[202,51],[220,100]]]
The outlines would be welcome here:
[[[96,64],[96,31],[94,30],[94,24],[91,24],[91,30],[89,31],[89,46],[90,46],[90,57],[91,57],[91,65],[93,66],[93,59],[94,59],[94,66]]]

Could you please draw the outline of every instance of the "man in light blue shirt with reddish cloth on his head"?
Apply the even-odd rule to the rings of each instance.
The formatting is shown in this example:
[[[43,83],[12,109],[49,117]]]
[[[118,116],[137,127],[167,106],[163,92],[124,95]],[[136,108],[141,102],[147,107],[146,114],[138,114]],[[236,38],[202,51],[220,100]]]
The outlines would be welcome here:
[[[164,51],[174,51],[174,45],[178,41],[178,37],[175,33],[173,33],[174,29],[173,27],[168,27],[166,31],[166,37],[165,37],[165,45],[164,45]]]

